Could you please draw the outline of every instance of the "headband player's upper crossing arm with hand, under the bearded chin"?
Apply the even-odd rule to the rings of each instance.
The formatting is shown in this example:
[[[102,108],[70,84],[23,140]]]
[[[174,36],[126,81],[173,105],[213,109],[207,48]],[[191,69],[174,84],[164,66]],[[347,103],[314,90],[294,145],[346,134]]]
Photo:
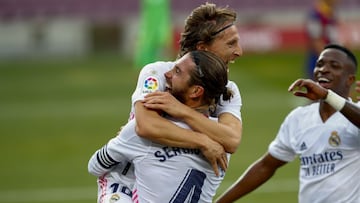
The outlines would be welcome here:
[[[187,123],[193,130],[208,135],[224,146],[225,151],[234,153],[242,134],[241,121],[230,113],[222,113],[218,122],[204,119],[204,115],[182,104],[167,92],[154,92],[145,97],[144,106],[165,111]]]

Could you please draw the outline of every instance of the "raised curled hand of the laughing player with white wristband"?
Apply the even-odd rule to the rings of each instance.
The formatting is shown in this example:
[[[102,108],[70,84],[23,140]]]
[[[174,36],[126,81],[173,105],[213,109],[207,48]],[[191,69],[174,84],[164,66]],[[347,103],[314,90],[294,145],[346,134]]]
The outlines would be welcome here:
[[[288,91],[293,92],[295,96],[306,97],[311,100],[325,99],[328,93],[326,88],[310,79],[296,80],[290,85]]]

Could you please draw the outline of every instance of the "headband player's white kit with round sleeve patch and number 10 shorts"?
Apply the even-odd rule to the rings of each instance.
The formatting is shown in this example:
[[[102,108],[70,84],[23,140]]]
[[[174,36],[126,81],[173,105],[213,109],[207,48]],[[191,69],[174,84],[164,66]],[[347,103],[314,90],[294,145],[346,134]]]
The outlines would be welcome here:
[[[134,119],[134,117],[135,117],[135,113],[134,113],[135,102],[144,99],[144,96],[150,92],[165,90],[166,79],[165,79],[164,74],[167,71],[171,70],[174,67],[175,63],[176,62],[159,61],[159,62],[148,64],[141,69],[139,77],[138,77],[136,89],[135,89],[134,93],[132,94],[132,98],[131,98],[132,105],[131,105],[129,121]],[[223,101],[222,97],[221,97],[221,100],[220,100],[221,105],[217,106],[215,116],[228,112],[228,113],[231,113],[232,115],[234,115],[239,120],[241,120],[240,109],[242,106],[242,101],[241,101],[241,95],[240,95],[239,89],[238,89],[237,85],[232,81],[228,82],[227,87],[233,92],[233,97],[231,98],[230,101]],[[89,162],[89,167],[91,167],[90,165],[91,165],[91,163]],[[126,163],[120,163],[118,168],[125,167],[126,165],[127,165]],[[99,169],[97,169],[97,170],[99,170]],[[132,189],[133,183],[135,182],[135,178],[133,175],[134,174],[133,167],[131,167],[127,171],[126,177],[124,174],[121,174],[121,171],[122,171],[122,169],[119,169],[119,170],[117,169],[117,170],[113,170],[113,171],[100,170],[100,172],[97,173],[97,176],[99,176],[99,178],[98,178],[98,200],[99,201],[98,202],[104,202],[104,201],[100,201],[100,200],[108,199],[108,198],[105,198],[108,196],[112,197],[114,195],[115,196],[120,195],[119,193],[114,193],[115,191],[112,187],[109,187],[110,185],[118,184],[119,188]],[[101,184],[104,182],[108,183],[106,185],[107,187],[105,187],[104,184]]]

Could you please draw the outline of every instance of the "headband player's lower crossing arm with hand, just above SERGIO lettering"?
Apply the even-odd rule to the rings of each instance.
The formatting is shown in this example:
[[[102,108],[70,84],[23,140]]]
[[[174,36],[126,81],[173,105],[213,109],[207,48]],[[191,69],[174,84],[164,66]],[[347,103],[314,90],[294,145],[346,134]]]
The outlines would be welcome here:
[[[135,103],[135,112],[136,132],[139,136],[163,145],[200,149],[216,175],[219,175],[218,164],[226,170],[227,159],[223,146],[204,133],[181,128],[160,116],[157,111],[144,107],[140,101]]]

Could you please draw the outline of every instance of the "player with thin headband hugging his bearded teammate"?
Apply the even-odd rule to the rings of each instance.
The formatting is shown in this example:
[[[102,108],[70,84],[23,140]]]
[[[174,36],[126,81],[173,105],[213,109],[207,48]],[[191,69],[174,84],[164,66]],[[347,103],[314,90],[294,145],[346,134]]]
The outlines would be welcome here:
[[[179,57],[188,51],[206,50],[219,56],[226,64],[242,55],[240,37],[236,25],[236,13],[228,8],[205,3],[195,8],[185,21],[181,36]],[[167,105],[157,105],[160,93],[165,90],[164,73],[169,71],[175,62],[155,62],[146,65],[140,72],[137,87],[132,95],[130,119],[136,117],[137,134],[154,142],[192,149],[200,149],[213,170],[219,175],[219,166],[227,168],[226,152],[234,153],[240,143],[242,134],[241,95],[237,85],[229,81],[227,87],[233,92],[228,101],[221,101],[216,108],[218,122],[205,117],[186,105],[177,102],[170,94],[162,95]],[[154,93],[154,94],[153,94]],[[145,95],[148,97],[144,99]],[[147,103],[144,103],[146,102]],[[177,102],[177,103],[176,103]],[[176,105],[176,107],[174,107]],[[158,114],[159,109],[167,111],[173,117],[185,121],[192,129],[180,128]],[[166,108],[168,107],[168,108]],[[155,108],[155,109],[154,109]],[[169,109],[178,110],[182,114]],[[203,136],[207,135],[207,136]],[[126,176],[126,177],[125,177]],[[98,179],[98,199],[106,199],[119,190],[128,191],[132,187],[133,167],[120,163],[118,170],[112,170]],[[130,194],[129,192],[125,192]]]

